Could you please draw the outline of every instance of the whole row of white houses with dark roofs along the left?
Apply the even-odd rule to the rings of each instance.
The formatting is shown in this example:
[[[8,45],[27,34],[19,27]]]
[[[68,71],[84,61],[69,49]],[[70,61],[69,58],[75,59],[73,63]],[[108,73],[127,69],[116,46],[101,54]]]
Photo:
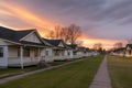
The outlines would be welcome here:
[[[14,31],[0,26],[0,67],[36,65],[44,61],[79,58],[95,55],[88,48],[67,45],[62,40],[41,37],[36,30]]]

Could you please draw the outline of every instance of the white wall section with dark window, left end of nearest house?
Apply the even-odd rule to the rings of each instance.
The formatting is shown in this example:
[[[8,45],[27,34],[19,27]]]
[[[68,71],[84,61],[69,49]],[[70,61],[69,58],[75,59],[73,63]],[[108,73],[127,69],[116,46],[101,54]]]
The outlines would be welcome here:
[[[8,55],[7,54],[8,52],[7,52],[7,46],[0,46],[0,67],[6,67],[6,66],[8,66],[8,56],[6,56],[6,55]]]

